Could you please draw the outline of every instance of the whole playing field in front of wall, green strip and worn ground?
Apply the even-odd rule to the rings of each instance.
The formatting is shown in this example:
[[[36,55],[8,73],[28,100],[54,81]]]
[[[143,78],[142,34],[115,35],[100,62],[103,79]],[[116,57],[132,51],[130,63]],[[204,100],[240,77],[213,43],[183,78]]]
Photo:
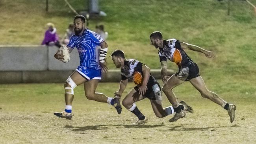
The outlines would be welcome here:
[[[129,83],[125,94],[133,87]],[[108,96],[118,83],[99,83],[98,92]],[[136,105],[148,117],[142,126],[131,125],[137,119],[123,107],[118,115],[106,104],[87,100],[83,86],[75,89],[74,117],[65,120],[53,115],[64,109],[61,83],[0,85],[1,144],[253,144],[256,142],[255,96],[228,95],[215,90],[224,100],[236,103],[236,118],[230,123],[227,112],[200,97],[189,83],[177,87],[178,100],[185,100],[195,113],[170,123],[172,117],[157,118],[148,99]],[[124,98],[122,96],[122,99]],[[170,103],[163,96],[163,106]]]

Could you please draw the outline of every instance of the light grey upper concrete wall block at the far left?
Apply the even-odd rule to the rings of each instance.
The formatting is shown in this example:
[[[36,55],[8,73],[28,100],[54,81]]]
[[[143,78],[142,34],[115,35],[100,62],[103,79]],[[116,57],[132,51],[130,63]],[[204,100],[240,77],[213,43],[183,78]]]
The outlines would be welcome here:
[[[0,70],[46,70],[47,47],[0,47]]]

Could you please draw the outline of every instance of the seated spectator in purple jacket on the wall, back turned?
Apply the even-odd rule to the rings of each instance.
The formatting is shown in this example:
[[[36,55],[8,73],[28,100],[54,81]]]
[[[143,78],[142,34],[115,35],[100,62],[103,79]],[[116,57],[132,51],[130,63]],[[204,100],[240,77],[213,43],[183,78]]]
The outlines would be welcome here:
[[[53,46],[56,45],[60,47],[61,45],[59,44],[59,37],[56,33],[56,28],[54,27],[54,24],[52,23],[47,23],[46,27],[48,28],[45,31],[45,38],[42,42],[42,45],[45,44],[47,46]]]

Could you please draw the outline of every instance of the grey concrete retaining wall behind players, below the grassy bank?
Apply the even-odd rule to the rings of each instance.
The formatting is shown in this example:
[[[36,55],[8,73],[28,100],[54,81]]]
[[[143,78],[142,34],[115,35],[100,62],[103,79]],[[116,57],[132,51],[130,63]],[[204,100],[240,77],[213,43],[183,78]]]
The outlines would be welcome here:
[[[78,51],[71,53],[69,63],[54,58],[58,48],[35,46],[0,46],[0,83],[61,83],[80,64]],[[169,70],[173,74],[173,70]],[[151,70],[152,76],[161,78],[160,70]],[[102,82],[119,82],[120,70],[109,70]]]

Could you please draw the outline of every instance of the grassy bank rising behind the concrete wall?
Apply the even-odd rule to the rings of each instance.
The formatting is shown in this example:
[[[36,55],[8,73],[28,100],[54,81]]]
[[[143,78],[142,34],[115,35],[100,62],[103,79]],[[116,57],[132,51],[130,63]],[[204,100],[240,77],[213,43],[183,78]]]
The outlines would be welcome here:
[[[256,0],[250,0],[256,4]],[[79,11],[87,9],[86,0],[69,0]],[[162,31],[164,39],[176,38],[212,50],[217,58],[212,61],[202,54],[188,52],[202,67],[226,69],[246,68],[255,74],[256,16],[245,1],[232,0],[230,16],[227,15],[226,0],[99,0],[100,9],[107,17],[92,18],[89,28],[95,30],[98,23],[109,32],[107,40],[109,54],[115,48],[126,52],[127,57],[137,58],[150,68],[160,68],[156,63],[157,50],[149,45],[152,31]],[[49,11],[45,1],[1,0],[0,45],[41,44],[45,24],[53,22],[63,36],[74,13],[63,0],[49,0]],[[143,56],[142,56],[143,53]],[[199,57],[200,56],[200,57]],[[147,59],[150,57],[150,59]],[[110,59],[109,67],[114,68]],[[201,67],[201,66],[200,66]],[[176,68],[172,65],[171,68]],[[230,68],[227,68],[230,69]]]

